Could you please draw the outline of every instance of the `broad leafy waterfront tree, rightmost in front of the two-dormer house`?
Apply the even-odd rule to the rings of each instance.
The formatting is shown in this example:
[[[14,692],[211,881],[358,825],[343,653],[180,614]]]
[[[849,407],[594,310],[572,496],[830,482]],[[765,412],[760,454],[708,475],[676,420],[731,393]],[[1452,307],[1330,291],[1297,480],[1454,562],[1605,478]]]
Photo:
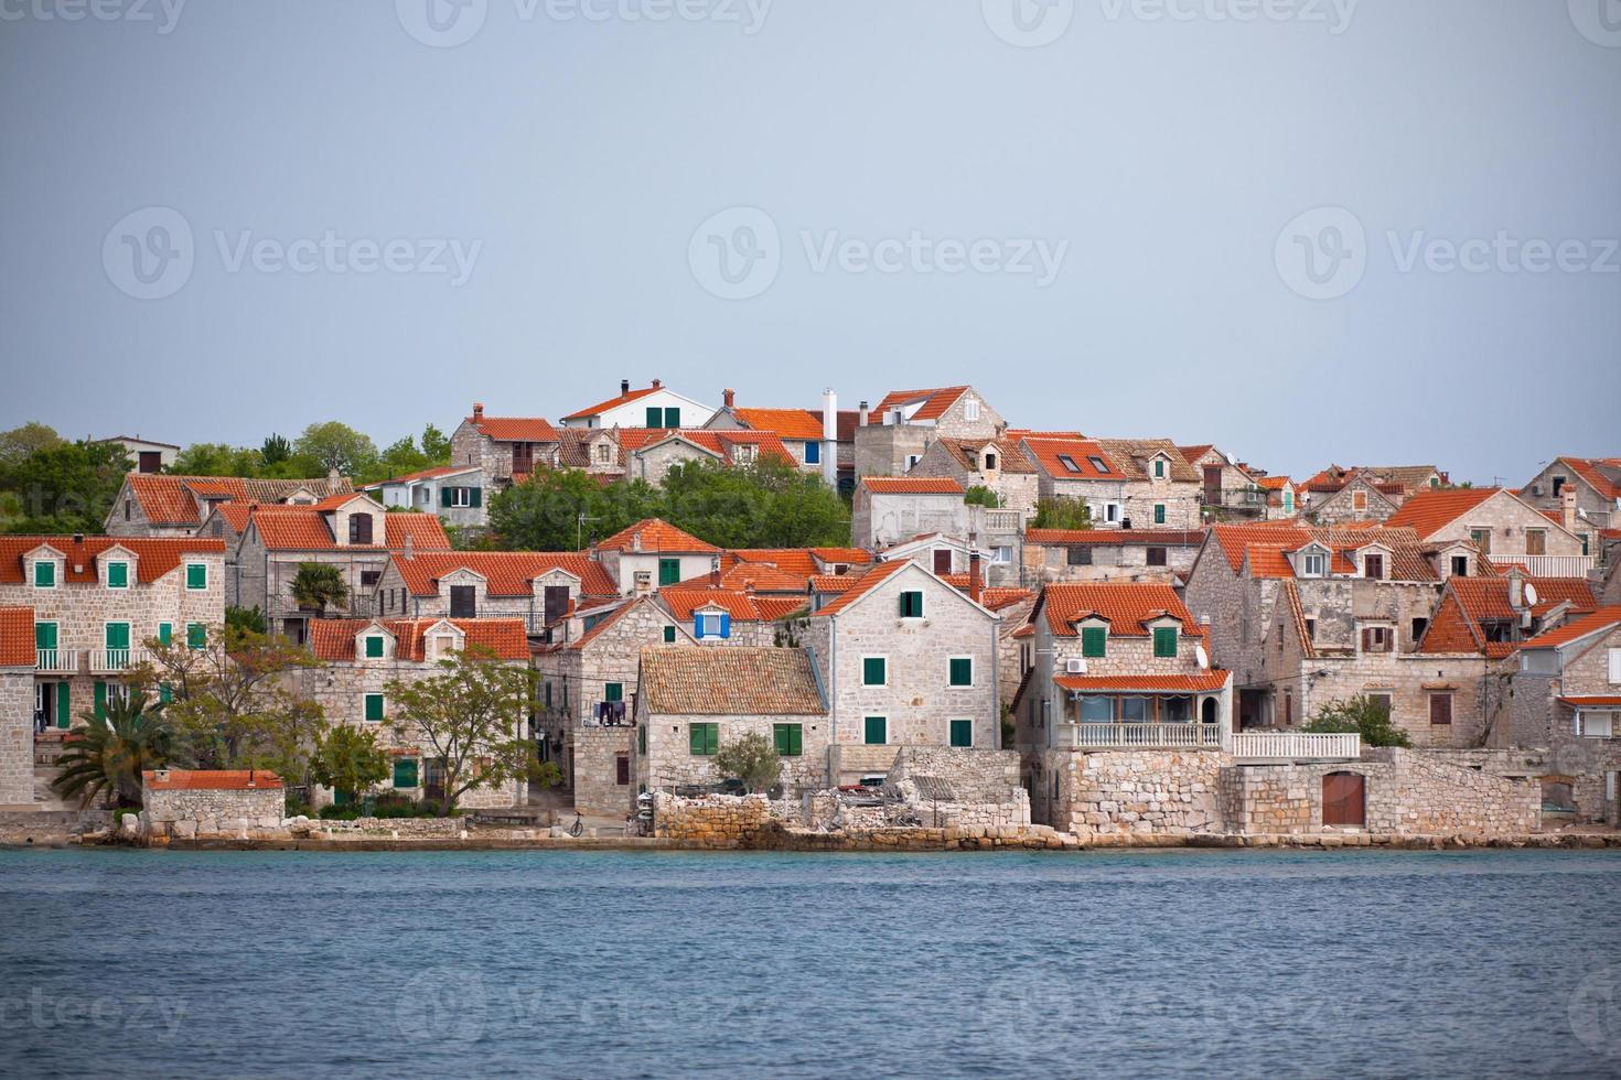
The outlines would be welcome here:
[[[392,680],[383,690],[394,704],[386,722],[396,737],[438,758],[441,813],[449,816],[467,792],[528,777],[533,748],[522,727],[535,682],[527,667],[498,662],[488,649],[452,653],[438,669],[438,675]]]

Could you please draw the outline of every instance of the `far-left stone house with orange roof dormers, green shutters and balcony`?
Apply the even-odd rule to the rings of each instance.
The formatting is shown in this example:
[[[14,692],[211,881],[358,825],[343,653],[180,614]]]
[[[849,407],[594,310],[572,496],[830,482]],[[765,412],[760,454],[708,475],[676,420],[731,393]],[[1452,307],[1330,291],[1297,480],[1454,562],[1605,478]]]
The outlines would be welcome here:
[[[0,606],[32,609],[36,727],[66,730],[125,693],[146,643],[207,640],[225,622],[216,539],[0,536]],[[15,617],[13,617],[15,619]]]

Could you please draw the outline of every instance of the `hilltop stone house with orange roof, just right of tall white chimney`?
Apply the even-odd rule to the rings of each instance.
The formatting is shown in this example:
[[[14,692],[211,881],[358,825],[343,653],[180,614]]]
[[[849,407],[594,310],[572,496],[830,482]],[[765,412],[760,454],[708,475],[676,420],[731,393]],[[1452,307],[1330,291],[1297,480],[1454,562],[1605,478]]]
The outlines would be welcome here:
[[[935,439],[997,439],[1007,421],[973,387],[893,390],[856,424],[856,479],[905,476]]]

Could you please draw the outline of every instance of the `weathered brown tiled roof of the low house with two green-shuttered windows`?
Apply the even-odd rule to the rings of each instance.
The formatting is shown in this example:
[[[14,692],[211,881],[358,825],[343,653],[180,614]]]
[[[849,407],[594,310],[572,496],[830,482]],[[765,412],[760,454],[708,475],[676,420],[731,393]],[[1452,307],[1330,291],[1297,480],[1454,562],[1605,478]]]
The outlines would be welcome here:
[[[639,693],[665,716],[822,716],[827,703],[804,649],[652,646]]]

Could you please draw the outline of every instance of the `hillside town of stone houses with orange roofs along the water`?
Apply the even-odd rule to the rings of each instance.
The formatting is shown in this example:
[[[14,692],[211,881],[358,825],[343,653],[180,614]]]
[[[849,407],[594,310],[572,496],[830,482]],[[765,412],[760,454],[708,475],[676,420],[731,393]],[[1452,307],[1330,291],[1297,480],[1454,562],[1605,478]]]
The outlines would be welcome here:
[[[209,714],[212,667],[253,665],[220,641],[251,627],[274,662],[243,685],[386,767],[345,784],[290,774],[280,743],[217,767],[157,753],[128,793],[141,827],[378,800],[676,839],[747,832],[747,805],[807,837],[1049,847],[1621,823],[1618,457],[1551,457],[1512,487],[1446,460],[1284,476],[1172,437],[1200,432],[1023,429],[971,385],[856,408],[614,390],[468,403],[447,463],[365,483],[183,474],[180,447],[113,440],[130,471],[99,533],[0,536],[0,811],[115,805],[70,792],[70,763],[126,738],[131,701]],[[493,542],[493,507],[535,484],[767,465],[836,492],[848,536],[728,547],[661,517],[598,534],[582,510],[569,549]],[[452,751],[412,687],[475,662],[512,672],[522,708]],[[751,737],[775,761],[746,798],[718,763]]]

